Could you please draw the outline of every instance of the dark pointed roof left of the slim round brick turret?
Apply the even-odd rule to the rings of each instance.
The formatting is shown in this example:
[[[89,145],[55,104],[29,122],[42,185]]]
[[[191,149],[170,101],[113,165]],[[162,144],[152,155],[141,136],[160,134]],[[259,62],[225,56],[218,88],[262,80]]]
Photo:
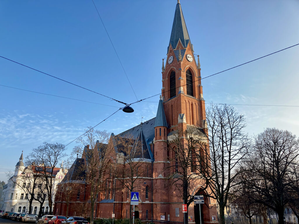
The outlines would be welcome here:
[[[135,141],[135,144],[132,148],[131,153],[133,153],[134,158],[153,160],[153,155],[147,146],[147,141],[146,141],[143,131],[142,131],[142,124],[143,123],[141,122],[140,132],[138,134],[138,137]]]

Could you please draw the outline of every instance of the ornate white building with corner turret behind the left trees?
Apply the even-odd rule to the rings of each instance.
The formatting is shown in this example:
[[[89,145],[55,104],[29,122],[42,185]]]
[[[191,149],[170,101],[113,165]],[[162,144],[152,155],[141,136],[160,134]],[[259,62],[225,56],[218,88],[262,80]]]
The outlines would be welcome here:
[[[19,159],[19,162],[16,164],[15,173],[7,182],[7,185],[4,185],[3,192],[1,195],[0,200],[0,211],[10,211],[10,212],[29,212],[29,199],[30,194],[28,194],[28,189],[30,184],[32,184],[33,175],[36,175],[36,171],[33,168],[38,168],[38,166],[28,166],[25,167],[23,163],[23,152]],[[55,167],[53,176],[51,178],[53,181],[53,188],[52,188],[52,201],[54,207],[54,198],[57,189],[57,184],[60,183],[65,176],[66,171],[62,168]],[[32,174],[32,175],[30,175]],[[45,184],[45,180],[39,178],[39,183]],[[39,195],[38,188],[36,187],[38,183],[34,185],[34,193],[35,195]],[[33,187],[33,186],[32,186]],[[42,205],[42,214],[49,213],[49,204],[48,204],[48,196],[46,190],[43,191],[46,194],[46,200]],[[32,210],[31,213],[38,214],[40,208],[40,202],[37,200],[33,200],[32,202]]]

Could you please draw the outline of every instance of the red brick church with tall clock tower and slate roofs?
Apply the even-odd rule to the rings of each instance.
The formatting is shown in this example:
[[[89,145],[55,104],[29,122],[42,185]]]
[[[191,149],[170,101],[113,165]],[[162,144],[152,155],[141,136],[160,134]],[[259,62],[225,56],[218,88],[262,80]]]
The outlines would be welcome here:
[[[167,46],[167,59],[162,64],[162,93],[158,103],[157,115],[155,118],[141,123],[118,135],[111,134],[109,144],[115,144],[112,139],[130,138],[140,143],[141,151],[134,157],[139,159],[147,167],[147,174],[135,185],[140,185],[139,204],[135,205],[135,218],[149,220],[151,222],[179,222],[183,223],[184,213],[182,213],[183,200],[179,195],[179,190],[167,187],[167,176],[176,172],[172,166],[169,170],[165,167],[175,163],[173,153],[169,150],[169,139],[178,130],[186,130],[188,127],[195,127],[204,134],[205,128],[205,101],[202,95],[202,85],[200,81],[200,63],[193,53],[193,45],[190,42],[181,4],[176,4],[173,20],[173,27],[170,35],[170,42]],[[118,163],[119,154],[122,154],[118,145],[114,145],[114,161]],[[88,150],[88,146],[85,148]],[[132,149],[134,151],[134,149]],[[126,157],[123,154],[123,157]],[[73,195],[73,199],[68,205],[66,214],[66,203],[63,197],[56,197],[53,214],[59,215],[83,215],[79,207],[75,206],[89,198],[89,184],[84,180],[78,180],[84,172],[77,171],[76,167],[84,163],[84,158],[77,158],[69,169],[63,183],[81,183],[82,190]],[[121,162],[120,162],[121,163]],[[124,164],[125,165],[125,164]],[[114,186],[120,186],[117,179],[113,180]],[[60,187],[58,187],[59,191]],[[205,194],[201,185],[193,189],[193,195]],[[100,193],[94,205],[94,217],[109,218],[115,214],[115,218],[129,218],[130,196],[129,192],[123,189],[116,189],[113,193]],[[218,223],[216,202],[204,198],[205,204],[199,205],[190,203],[188,207],[189,223]],[[79,202],[79,203],[78,203]],[[82,210],[82,209],[81,209]],[[199,216],[201,211],[201,219]]]

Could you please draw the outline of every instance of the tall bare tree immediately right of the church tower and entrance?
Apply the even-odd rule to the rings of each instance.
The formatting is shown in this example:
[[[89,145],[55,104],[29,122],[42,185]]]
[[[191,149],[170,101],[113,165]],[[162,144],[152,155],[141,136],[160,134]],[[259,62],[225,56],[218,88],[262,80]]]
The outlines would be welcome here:
[[[208,143],[202,142],[198,155],[198,171],[219,206],[219,223],[225,223],[225,206],[233,185],[239,175],[237,165],[248,154],[250,139],[244,133],[244,115],[239,115],[230,105],[211,105],[206,111]],[[236,184],[236,183],[235,183]]]

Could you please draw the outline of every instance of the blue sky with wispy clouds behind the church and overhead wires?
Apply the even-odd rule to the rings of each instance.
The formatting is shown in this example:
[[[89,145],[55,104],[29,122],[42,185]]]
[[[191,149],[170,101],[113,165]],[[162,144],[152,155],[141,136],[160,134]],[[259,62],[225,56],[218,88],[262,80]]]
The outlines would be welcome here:
[[[138,99],[161,92],[176,0],[94,0]],[[299,43],[299,1],[181,0],[202,77]],[[120,101],[137,99],[90,1],[0,2],[0,55]],[[299,105],[299,46],[202,80],[208,103]],[[0,180],[21,151],[68,144],[121,104],[0,58]],[[159,97],[119,111],[97,128],[118,134],[156,115]],[[113,107],[114,106],[114,107]],[[299,107],[235,106],[246,131],[299,135]],[[68,145],[68,152],[75,143]]]

